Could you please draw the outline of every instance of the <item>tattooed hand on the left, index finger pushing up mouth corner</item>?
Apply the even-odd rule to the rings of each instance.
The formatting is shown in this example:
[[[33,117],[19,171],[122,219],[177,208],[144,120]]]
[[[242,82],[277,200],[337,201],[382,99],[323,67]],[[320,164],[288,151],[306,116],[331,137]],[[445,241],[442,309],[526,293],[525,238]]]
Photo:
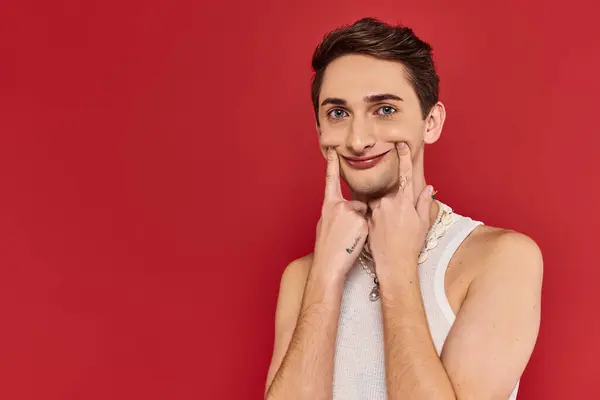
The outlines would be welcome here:
[[[344,279],[369,233],[366,212],[366,204],[344,199],[339,157],[335,149],[329,148],[325,199],[317,224],[312,272],[334,280]]]

